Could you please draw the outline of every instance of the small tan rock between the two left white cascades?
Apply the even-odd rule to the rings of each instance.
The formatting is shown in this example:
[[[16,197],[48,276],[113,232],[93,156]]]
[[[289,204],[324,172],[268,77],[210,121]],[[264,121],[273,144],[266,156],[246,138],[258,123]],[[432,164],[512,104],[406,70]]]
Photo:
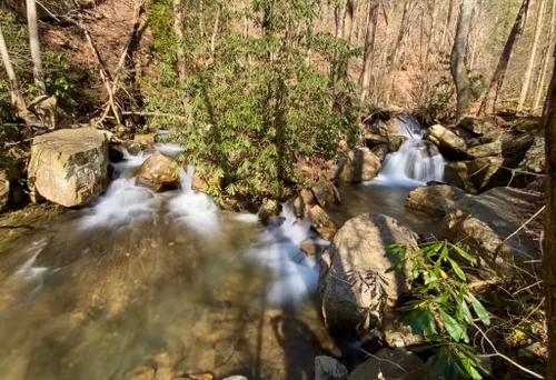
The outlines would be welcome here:
[[[160,191],[163,186],[176,183],[178,179],[176,161],[158,151],[137,171],[137,183],[153,191]]]

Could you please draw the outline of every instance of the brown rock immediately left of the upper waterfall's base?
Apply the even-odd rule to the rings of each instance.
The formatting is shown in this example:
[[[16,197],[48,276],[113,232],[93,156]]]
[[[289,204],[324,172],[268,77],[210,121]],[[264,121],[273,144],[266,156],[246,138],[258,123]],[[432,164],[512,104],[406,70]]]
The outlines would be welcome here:
[[[380,171],[380,160],[368,148],[356,148],[349,151],[340,164],[341,182],[361,182],[375,178]]]

